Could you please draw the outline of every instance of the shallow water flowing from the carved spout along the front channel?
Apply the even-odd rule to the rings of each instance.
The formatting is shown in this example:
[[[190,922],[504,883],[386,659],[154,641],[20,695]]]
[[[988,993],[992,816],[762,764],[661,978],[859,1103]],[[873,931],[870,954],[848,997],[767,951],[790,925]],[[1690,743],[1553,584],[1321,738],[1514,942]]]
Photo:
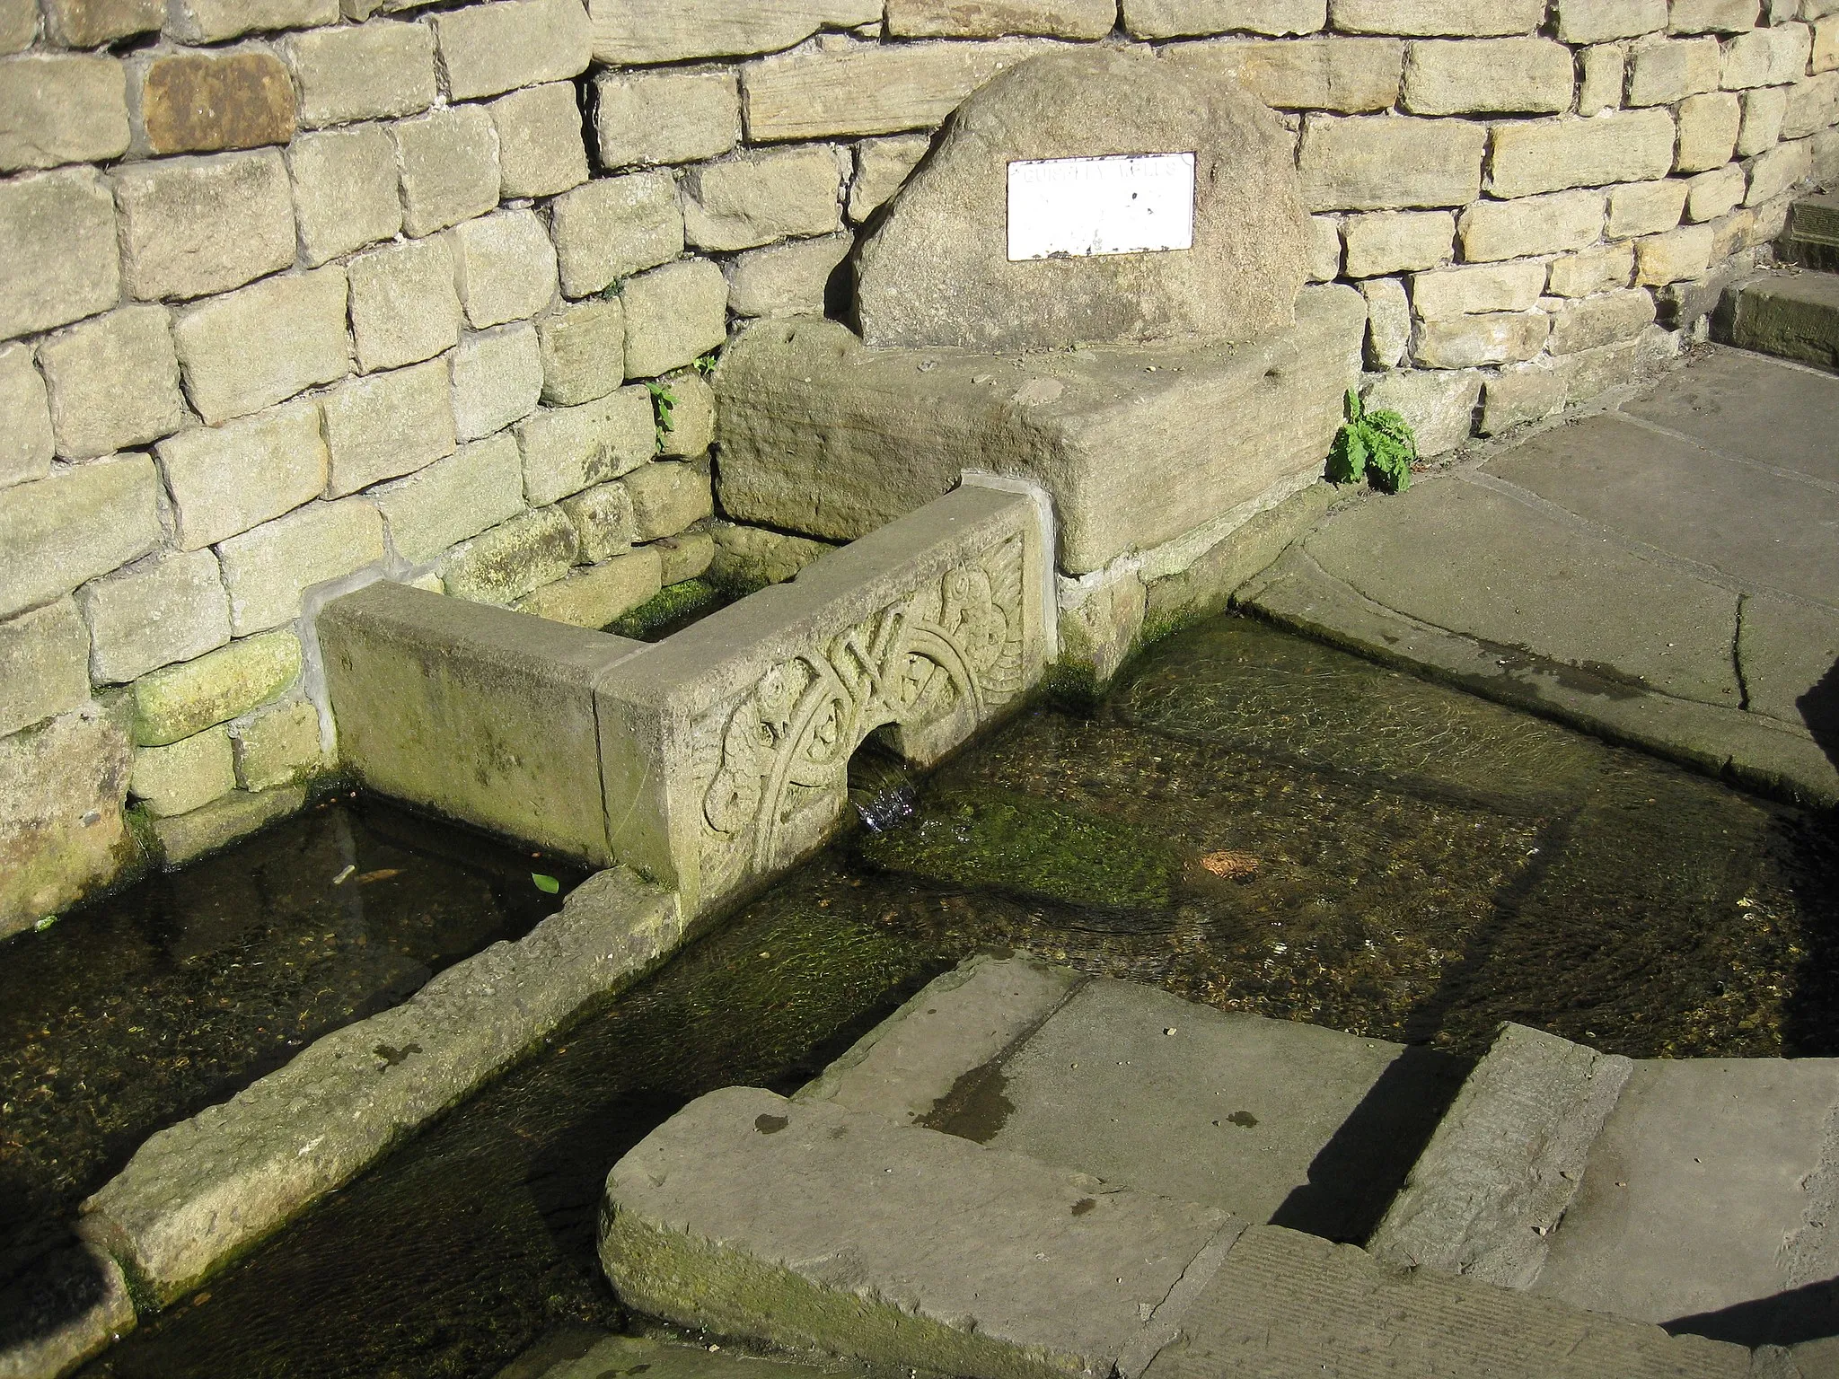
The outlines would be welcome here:
[[[1091,712],[1026,712],[910,815],[890,774],[857,781],[883,831],[85,1373],[491,1375],[557,1324],[627,1326],[594,1259],[607,1168],[701,1092],[794,1088],[978,949],[1455,1057],[1502,1019],[1650,1057],[1839,1054],[1830,820],[1252,621],[1168,638]]]

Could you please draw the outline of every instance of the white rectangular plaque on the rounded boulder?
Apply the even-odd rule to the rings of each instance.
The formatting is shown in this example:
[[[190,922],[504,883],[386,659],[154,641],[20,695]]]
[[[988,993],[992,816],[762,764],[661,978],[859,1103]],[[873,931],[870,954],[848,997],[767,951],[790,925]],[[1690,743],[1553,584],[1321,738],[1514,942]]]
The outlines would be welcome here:
[[[1194,248],[1194,154],[1010,164],[1010,263]]]

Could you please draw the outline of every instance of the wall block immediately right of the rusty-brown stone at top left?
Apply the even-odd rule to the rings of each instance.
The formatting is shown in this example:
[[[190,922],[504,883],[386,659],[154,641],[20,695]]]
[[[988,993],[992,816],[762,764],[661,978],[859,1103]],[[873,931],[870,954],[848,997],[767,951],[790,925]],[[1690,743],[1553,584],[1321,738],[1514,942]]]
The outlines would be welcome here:
[[[370,24],[296,33],[281,55],[300,85],[305,129],[353,120],[397,120],[434,105],[434,31],[427,24]]]

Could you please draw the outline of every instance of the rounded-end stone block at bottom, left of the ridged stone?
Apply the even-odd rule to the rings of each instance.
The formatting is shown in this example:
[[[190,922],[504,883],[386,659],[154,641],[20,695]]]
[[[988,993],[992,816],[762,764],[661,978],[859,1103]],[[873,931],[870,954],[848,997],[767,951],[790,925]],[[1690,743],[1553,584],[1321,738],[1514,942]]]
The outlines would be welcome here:
[[[824,1101],[712,1092],[607,1177],[600,1258],[684,1326],[977,1379],[1137,1375],[1243,1230]]]

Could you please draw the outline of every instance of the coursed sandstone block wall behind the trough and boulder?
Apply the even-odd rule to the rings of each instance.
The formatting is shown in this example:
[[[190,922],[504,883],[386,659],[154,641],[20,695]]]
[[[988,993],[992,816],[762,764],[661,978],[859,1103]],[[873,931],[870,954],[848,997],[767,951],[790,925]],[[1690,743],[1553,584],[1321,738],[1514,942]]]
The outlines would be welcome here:
[[[1282,114],[1429,452],[1668,353],[1839,177],[1839,0],[0,0],[0,934],[131,805],[169,860],[298,807],[327,592],[697,574],[697,360],[1063,42]]]

